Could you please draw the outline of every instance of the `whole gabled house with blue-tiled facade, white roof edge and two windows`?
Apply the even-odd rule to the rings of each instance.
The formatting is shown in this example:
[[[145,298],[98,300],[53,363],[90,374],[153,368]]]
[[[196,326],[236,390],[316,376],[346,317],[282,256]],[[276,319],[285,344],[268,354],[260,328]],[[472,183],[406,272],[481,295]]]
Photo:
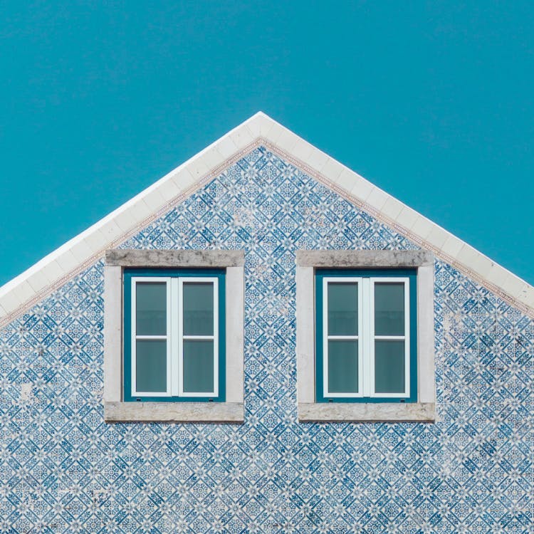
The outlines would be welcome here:
[[[258,113],[0,289],[0,533],[531,533],[533,318]]]

